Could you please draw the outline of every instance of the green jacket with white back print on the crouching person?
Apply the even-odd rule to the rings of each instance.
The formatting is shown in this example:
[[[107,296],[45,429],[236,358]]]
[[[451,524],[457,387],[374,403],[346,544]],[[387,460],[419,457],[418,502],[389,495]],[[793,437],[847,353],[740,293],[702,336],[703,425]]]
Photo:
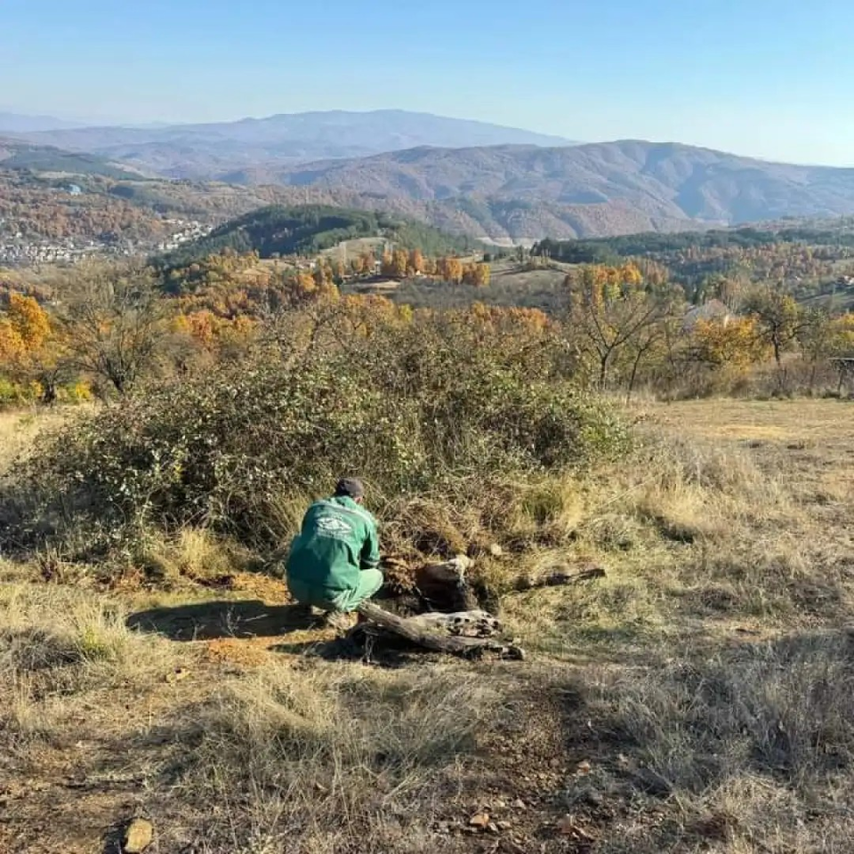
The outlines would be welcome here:
[[[359,588],[359,572],[380,563],[376,520],[352,498],[315,502],[287,559],[287,577],[332,596]]]

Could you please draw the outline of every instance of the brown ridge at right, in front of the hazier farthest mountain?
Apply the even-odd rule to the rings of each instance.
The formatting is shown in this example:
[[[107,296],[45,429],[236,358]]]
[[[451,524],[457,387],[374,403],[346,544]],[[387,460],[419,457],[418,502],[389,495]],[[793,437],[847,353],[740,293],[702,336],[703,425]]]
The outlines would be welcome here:
[[[854,170],[673,143],[419,148],[290,165],[278,182],[346,191],[489,238],[685,230],[854,213]]]

